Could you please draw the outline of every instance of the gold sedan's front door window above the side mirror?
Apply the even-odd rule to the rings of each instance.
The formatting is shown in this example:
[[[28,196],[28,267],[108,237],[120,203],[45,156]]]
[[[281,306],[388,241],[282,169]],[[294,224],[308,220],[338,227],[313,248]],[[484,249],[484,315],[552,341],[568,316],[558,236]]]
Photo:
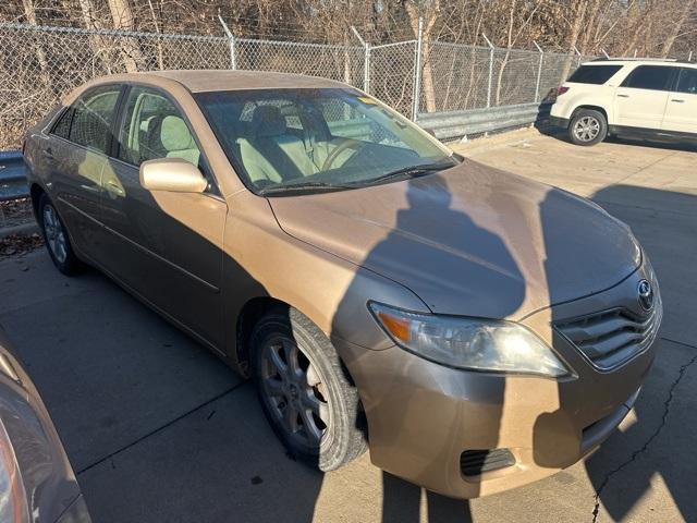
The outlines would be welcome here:
[[[200,167],[200,151],[180,110],[164,95],[144,87],[129,94],[119,158],[135,166],[156,158],[182,158]]]

